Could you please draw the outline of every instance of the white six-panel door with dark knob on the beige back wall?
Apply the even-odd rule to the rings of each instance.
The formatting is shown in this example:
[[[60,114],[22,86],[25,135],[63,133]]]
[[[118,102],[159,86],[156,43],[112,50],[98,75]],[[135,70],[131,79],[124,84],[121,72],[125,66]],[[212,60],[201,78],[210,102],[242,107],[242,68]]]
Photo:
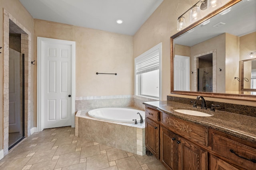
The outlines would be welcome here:
[[[73,48],[67,41],[40,42],[41,129],[74,126]]]

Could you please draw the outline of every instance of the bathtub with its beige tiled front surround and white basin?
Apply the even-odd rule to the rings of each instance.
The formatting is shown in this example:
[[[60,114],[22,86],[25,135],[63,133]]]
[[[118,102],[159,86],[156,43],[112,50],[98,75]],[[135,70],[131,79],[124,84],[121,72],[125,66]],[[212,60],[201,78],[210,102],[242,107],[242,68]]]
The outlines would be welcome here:
[[[114,118],[102,118],[102,115],[96,116],[97,112],[106,113],[106,110],[110,112],[109,115],[113,115]],[[127,113],[128,111],[132,111],[132,113]],[[91,115],[89,115],[89,112]],[[125,150],[126,152],[145,155],[145,121],[144,123],[140,123],[140,115],[137,114],[138,112],[145,118],[144,111],[136,109],[101,108],[90,111],[78,110],[75,120],[75,136]],[[113,113],[117,113],[117,115]],[[131,117],[124,119],[124,117],[126,117],[124,115],[126,114]],[[122,117],[120,117],[120,115],[122,115]],[[119,118],[117,119],[117,117]],[[135,121],[132,121],[132,119],[137,119],[138,124],[135,124]],[[123,123],[120,121],[131,121],[132,123]]]

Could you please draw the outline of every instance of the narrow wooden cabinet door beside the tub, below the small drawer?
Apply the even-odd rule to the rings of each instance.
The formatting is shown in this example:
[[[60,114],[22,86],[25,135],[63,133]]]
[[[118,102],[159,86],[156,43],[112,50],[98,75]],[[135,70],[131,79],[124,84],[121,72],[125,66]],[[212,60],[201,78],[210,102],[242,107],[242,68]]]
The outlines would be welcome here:
[[[159,159],[159,124],[146,118],[145,128],[146,147]]]

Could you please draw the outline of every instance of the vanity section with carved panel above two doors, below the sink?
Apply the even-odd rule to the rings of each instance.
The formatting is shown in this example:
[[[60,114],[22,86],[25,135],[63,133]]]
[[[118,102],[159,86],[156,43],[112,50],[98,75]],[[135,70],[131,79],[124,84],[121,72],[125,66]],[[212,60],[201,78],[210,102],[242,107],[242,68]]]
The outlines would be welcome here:
[[[208,168],[208,152],[200,147],[207,144],[206,127],[182,121],[166,113],[162,113],[160,124],[160,161],[166,168],[170,170]]]

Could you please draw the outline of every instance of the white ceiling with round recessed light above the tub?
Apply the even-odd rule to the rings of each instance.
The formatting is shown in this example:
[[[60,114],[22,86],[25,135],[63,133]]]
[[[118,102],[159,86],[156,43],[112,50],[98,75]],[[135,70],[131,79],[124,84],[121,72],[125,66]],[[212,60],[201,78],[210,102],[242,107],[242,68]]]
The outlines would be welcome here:
[[[163,0],[20,0],[33,18],[134,35]],[[116,23],[121,19],[122,24]]]

